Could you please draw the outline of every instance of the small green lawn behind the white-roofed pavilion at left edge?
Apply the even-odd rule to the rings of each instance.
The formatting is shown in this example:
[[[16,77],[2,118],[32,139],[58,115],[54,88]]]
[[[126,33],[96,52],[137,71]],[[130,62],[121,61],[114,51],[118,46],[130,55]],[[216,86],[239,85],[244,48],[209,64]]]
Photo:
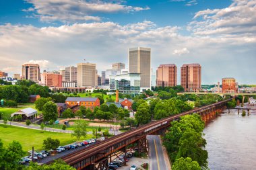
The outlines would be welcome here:
[[[33,103],[30,103],[30,105],[28,105],[28,103],[26,103],[25,105],[18,105],[18,108],[0,108],[0,114],[3,113],[3,118],[7,118],[9,119],[11,117],[11,114],[13,114],[14,112],[17,112],[18,110],[22,110],[22,109],[26,109],[26,108],[33,108],[34,110],[36,110],[36,105],[34,105]],[[38,115],[42,114],[42,112],[38,112]]]

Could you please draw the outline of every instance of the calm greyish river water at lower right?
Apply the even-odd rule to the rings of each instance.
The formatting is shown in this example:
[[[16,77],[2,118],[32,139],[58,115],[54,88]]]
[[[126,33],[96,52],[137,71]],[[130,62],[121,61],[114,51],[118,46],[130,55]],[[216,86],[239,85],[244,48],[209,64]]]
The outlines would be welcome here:
[[[256,112],[242,117],[224,110],[203,132],[211,170],[256,169]]]

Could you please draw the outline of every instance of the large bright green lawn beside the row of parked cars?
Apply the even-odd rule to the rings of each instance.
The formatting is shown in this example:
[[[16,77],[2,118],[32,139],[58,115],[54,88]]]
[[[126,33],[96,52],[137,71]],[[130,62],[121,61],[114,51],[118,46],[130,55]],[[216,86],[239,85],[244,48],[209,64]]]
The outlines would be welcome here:
[[[0,124],[0,138],[4,146],[7,146],[12,140],[17,140],[22,144],[24,151],[32,150],[32,146],[39,151],[42,150],[43,140],[48,137],[58,138],[61,141],[61,145],[69,144],[76,140],[71,138],[71,134],[32,130],[9,125],[4,128],[3,124]],[[92,138],[92,135],[88,134],[87,138]]]

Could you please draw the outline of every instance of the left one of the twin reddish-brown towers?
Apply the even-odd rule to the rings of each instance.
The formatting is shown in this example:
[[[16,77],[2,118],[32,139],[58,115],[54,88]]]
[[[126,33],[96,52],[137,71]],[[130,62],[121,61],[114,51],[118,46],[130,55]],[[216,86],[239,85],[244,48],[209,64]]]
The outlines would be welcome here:
[[[156,86],[177,86],[177,66],[174,64],[160,65],[156,71]]]

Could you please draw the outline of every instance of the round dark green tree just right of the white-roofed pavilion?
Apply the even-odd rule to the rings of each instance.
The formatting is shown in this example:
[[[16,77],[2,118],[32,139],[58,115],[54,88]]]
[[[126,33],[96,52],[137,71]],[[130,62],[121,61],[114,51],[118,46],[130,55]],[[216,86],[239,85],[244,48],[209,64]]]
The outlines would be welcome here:
[[[44,104],[42,115],[44,116],[44,121],[57,120],[58,109],[57,105],[53,101],[48,101]]]

